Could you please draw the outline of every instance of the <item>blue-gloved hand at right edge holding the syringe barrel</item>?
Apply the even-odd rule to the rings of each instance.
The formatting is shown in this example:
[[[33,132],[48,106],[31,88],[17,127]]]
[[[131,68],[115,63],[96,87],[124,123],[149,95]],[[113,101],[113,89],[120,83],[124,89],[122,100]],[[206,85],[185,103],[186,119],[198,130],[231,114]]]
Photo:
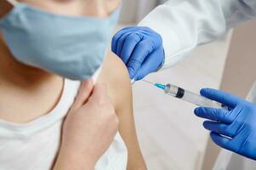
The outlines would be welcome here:
[[[201,94],[230,108],[196,108],[196,116],[212,120],[203,122],[203,126],[211,131],[213,142],[256,160],[256,105],[210,88],[202,89]]]

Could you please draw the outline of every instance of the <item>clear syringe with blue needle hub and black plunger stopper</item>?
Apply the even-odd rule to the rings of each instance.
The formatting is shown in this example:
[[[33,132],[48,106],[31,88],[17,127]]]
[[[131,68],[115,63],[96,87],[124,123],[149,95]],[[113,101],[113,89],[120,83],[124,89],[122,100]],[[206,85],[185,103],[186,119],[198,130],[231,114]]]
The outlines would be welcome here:
[[[148,82],[143,80],[144,82]],[[178,86],[175,86],[173,84],[160,84],[160,83],[153,83],[148,82],[154,85],[157,88],[161,88],[165,94],[168,94],[170,96],[173,96],[178,99],[183,99],[187,102],[190,102],[191,104],[202,106],[202,107],[212,107],[212,108],[225,108],[222,104],[219,102],[215,102],[211,99],[205,98],[200,94],[195,94],[191,91],[185,90],[184,88],[179,88]]]

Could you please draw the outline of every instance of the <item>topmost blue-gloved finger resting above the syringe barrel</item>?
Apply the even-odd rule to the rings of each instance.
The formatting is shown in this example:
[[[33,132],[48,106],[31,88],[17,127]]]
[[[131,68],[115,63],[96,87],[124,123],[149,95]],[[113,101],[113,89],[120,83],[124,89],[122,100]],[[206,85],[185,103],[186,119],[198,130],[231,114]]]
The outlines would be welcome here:
[[[242,99],[237,96],[212,88],[202,88],[200,94],[202,94],[204,97],[207,97],[208,99],[213,99],[232,108],[234,108],[242,101]]]

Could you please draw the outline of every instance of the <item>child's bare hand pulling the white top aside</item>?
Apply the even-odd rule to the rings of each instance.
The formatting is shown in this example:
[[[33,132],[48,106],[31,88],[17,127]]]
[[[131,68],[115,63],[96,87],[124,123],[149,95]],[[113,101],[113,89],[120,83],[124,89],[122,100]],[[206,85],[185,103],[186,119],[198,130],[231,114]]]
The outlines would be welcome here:
[[[54,169],[94,169],[117,134],[116,112],[106,87],[88,81],[82,84],[77,99],[66,117]]]

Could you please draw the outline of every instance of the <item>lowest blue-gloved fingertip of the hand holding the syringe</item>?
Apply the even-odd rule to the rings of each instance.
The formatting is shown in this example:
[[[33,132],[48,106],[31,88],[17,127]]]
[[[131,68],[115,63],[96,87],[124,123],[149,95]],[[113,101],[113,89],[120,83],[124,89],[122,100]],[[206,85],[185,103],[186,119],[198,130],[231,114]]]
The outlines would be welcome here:
[[[218,144],[221,148],[224,148],[226,150],[231,150],[232,147],[230,145],[231,139],[228,139],[224,136],[219,135],[218,133],[210,133],[211,139],[215,144]]]

